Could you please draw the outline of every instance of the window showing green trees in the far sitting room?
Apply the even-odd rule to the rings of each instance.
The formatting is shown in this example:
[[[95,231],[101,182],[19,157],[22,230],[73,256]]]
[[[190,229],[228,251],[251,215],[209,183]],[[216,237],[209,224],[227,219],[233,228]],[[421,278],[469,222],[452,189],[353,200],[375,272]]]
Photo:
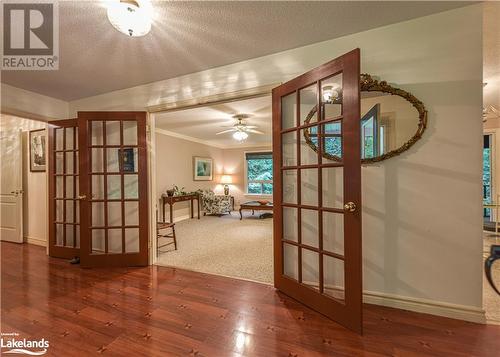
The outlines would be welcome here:
[[[271,195],[273,193],[273,154],[249,152],[245,154],[247,193]]]

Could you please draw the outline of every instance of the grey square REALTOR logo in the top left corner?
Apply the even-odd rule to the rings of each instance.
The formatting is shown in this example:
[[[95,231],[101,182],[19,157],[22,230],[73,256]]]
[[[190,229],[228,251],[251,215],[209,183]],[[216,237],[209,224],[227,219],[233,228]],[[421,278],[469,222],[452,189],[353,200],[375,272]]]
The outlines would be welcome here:
[[[59,69],[59,8],[55,1],[2,1],[2,70]]]

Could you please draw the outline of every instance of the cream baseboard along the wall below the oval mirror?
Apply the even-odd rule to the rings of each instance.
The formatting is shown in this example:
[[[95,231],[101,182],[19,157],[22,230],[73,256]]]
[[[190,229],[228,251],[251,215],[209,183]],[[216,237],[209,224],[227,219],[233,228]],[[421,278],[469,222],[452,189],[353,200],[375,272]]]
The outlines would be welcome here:
[[[480,324],[486,323],[485,311],[478,307],[436,302],[433,300],[417,299],[374,291],[364,291],[363,302]]]

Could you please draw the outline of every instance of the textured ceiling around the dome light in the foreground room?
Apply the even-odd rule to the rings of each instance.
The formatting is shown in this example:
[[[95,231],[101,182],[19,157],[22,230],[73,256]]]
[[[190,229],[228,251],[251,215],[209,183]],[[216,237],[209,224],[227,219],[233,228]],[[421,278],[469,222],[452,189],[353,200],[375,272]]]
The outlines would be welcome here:
[[[104,1],[60,2],[60,69],[2,82],[74,100],[468,5],[468,2],[153,2],[151,32],[128,38]]]

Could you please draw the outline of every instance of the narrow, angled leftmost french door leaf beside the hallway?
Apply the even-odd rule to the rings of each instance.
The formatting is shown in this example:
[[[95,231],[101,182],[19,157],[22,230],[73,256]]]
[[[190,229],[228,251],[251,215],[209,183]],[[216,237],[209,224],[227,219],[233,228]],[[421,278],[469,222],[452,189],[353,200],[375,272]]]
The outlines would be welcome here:
[[[78,127],[76,119],[49,123],[49,255],[80,256]]]

